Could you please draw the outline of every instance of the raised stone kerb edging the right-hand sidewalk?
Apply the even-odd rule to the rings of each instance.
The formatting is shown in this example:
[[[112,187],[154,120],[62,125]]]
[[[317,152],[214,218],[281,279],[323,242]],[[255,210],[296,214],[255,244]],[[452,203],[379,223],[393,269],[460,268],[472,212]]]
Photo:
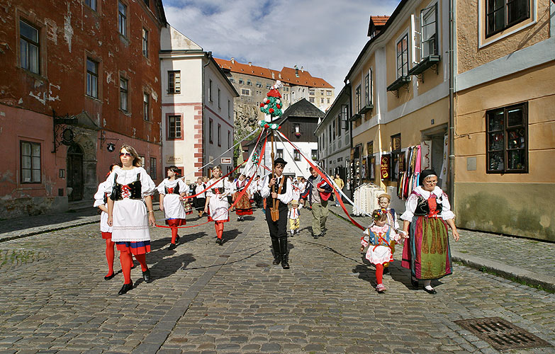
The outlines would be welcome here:
[[[332,212],[335,216],[344,219],[350,224],[349,219],[341,214],[342,210],[337,211],[330,208],[330,212]],[[452,261],[460,262],[471,268],[476,268],[482,271],[485,270],[495,275],[499,275],[503,278],[524,282],[527,285],[543,287],[545,290],[549,290],[551,292],[555,291],[555,277],[551,275],[531,272],[529,270],[513,267],[506,263],[476,257],[470,254],[461,253],[453,250],[451,251],[451,258]]]

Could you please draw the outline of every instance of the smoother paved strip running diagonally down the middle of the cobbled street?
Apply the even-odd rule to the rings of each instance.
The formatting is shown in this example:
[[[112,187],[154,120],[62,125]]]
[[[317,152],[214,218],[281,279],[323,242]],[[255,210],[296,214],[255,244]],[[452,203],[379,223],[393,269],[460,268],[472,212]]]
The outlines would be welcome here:
[[[252,229],[252,224],[248,229],[242,233],[242,235],[248,234]],[[240,237],[237,237],[233,242],[230,242],[230,245],[225,248],[221,254],[230,254],[235,251],[240,242],[238,242]],[[198,294],[203,290],[203,288],[210,282],[213,276],[218,273],[223,265],[228,261],[228,258],[217,258],[213,265],[208,267],[208,270],[201,275],[196,282],[194,282],[191,287],[184,293],[182,297],[176,300],[176,305],[169,309],[167,314],[160,319],[158,324],[154,326],[150,334],[140,343],[140,345],[133,350],[133,354],[142,354],[142,353],[156,353],[164,343],[167,341],[167,338],[174,330],[177,322],[181,317],[185,315],[189,306],[191,306],[191,302],[198,296]]]

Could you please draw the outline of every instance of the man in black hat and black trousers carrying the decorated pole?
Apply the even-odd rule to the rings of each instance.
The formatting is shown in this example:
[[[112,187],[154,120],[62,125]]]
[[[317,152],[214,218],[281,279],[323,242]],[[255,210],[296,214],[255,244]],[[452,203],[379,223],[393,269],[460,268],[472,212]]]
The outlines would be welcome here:
[[[291,179],[283,176],[284,167],[287,162],[281,157],[274,160],[274,175],[264,178],[262,183],[261,195],[266,198],[266,222],[271,237],[271,247],[274,250],[273,264],[281,263],[284,269],[289,268],[287,254],[287,212],[288,203],[293,200],[293,188],[291,187]],[[272,190],[274,187],[274,190]],[[276,200],[277,210],[279,211],[279,219],[272,220],[270,208]]]

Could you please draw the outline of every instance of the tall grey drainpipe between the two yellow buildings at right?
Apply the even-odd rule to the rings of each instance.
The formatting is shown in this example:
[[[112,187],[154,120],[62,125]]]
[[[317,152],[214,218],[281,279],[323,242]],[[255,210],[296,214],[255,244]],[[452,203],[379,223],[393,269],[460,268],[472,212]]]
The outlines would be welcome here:
[[[455,127],[454,127],[454,0],[449,0],[449,196],[455,206]]]

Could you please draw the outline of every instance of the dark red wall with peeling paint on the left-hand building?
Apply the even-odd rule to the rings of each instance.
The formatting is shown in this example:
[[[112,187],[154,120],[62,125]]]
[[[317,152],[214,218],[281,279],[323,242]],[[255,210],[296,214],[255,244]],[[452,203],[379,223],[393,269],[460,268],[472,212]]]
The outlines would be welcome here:
[[[98,0],[90,8],[80,0],[17,0],[0,3],[0,218],[67,210],[73,195],[86,204],[103,181],[109,164],[118,160],[123,142],[145,156],[147,171],[162,178],[160,126],[162,105],[160,30],[166,25],[162,2],[124,1],[125,35],[118,32],[118,1]],[[38,33],[38,68],[26,69],[21,58],[21,22]],[[142,51],[143,30],[148,32]],[[97,63],[98,93],[86,94],[86,62]],[[120,79],[128,80],[128,110],[120,109]],[[147,93],[148,120],[143,94]],[[54,147],[53,113],[77,118],[65,127],[74,132],[72,151],[82,154],[81,181],[69,186],[69,147]],[[62,128],[62,129],[60,129]],[[21,142],[40,144],[40,181],[21,178]],[[108,152],[109,142],[116,144]],[[55,152],[53,152],[56,150]],[[81,163],[80,163],[81,164]],[[71,193],[70,193],[71,192]],[[68,198],[69,194],[69,198]],[[92,204],[92,201],[91,201]]]

